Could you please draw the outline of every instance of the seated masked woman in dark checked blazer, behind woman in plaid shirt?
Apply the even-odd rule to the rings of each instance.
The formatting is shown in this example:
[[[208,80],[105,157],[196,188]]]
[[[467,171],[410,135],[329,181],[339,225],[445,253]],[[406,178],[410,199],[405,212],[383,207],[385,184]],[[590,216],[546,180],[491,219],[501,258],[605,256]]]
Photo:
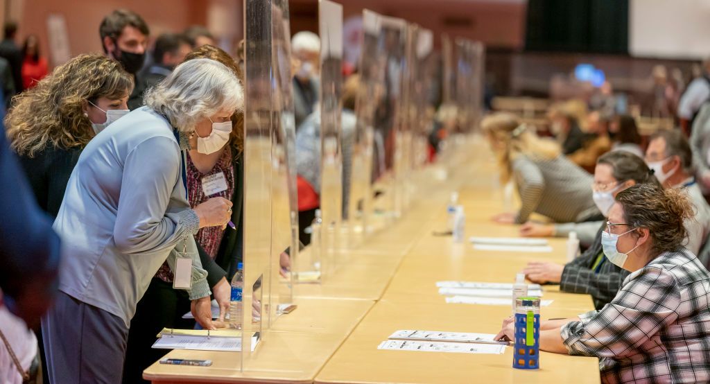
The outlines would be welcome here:
[[[594,169],[594,203],[602,214],[607,215],[614,203],[614,197],[619,192],[644,183],[660,187],[642,158],[625,151],[606,153],[597,160]],[[591,295],[596,309],[601,309],[610,302],[628,272],[604,257],[601,233],[606,228],[606,222],[595,221],[594,224],[594,241],[581,256],[567,265],[551,262],[529,263],[524,270],[528,280],[559,284],[559,290],[564,292]]]

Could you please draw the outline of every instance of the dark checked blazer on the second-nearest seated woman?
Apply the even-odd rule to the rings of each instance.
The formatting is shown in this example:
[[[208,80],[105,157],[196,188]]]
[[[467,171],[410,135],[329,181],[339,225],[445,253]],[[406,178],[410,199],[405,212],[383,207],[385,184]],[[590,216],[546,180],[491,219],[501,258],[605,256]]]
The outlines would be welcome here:
[[[589,249],[564,266],[562,280],[559,282],[559,290],[562,292],[591,295],[596,309],[601,309],[616,297],[621,283],[629,275],[628,270],[613,265],[606,256],[603,256],[601,231],[605,226],[606,222],[602,224]],[[599,255],[601,255],[601,264],[596,270],[592,270]]]

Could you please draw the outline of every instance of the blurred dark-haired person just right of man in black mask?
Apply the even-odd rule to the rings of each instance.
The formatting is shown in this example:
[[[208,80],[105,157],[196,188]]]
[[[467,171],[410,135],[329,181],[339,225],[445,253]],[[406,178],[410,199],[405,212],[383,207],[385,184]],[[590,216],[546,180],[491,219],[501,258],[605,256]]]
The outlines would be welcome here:
[[[138,72],[135,93],[143,97],[148,89],[168,77],[191,50],[190,42],[179,33],[159,35],[153,46],[154,62]]]

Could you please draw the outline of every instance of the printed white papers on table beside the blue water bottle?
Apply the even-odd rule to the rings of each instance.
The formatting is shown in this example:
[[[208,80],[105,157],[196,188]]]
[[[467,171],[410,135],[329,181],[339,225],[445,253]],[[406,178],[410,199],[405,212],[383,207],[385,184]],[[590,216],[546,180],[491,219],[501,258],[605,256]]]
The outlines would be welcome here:
[[[395,331],[377,349],[453,353],[491,353],[506,351],[508,342],[493,340],[494,334],[442,331]]]

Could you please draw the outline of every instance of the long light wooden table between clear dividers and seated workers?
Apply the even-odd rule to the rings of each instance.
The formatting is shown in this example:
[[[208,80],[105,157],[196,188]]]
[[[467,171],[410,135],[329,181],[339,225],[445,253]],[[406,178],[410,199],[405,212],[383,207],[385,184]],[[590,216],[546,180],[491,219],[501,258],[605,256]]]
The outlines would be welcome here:
[[[172,351],[171,358],[211,359],[212,367],[153,364],[153,383],[599,383],[596,358],[541,353],[538,371],[511,368],[503,355],[381,351],[397,329],[496,333],[508,306],[447,304],[439,280],[513,282],[531,260],[564,263],[564,240],[550,239],[552,253],[481,252],[450,236],[445,204],[459,190],[468,236],[518,236],[516,226],[492,224],[503,210],[493,157],[484,146],[467,155],[470,165],[428,188],[399,221],[346,252],[320,285],[295,287],[295,312],[277,319],[244,371],[238,353]],[[572,317],[593,309],[588,295],[544,288],[542,318]]]

